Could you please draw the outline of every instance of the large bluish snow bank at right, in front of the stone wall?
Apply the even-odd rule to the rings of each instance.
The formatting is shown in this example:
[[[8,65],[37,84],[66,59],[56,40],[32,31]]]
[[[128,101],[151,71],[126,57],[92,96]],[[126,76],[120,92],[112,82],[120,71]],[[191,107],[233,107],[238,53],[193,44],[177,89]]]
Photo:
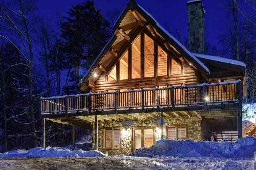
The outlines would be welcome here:
[[[256,138],[239,138],[235,143],[226,141],[160,140],[150,148],[140,148],[129,156],[154,157],[252,157],[256,151]]]

